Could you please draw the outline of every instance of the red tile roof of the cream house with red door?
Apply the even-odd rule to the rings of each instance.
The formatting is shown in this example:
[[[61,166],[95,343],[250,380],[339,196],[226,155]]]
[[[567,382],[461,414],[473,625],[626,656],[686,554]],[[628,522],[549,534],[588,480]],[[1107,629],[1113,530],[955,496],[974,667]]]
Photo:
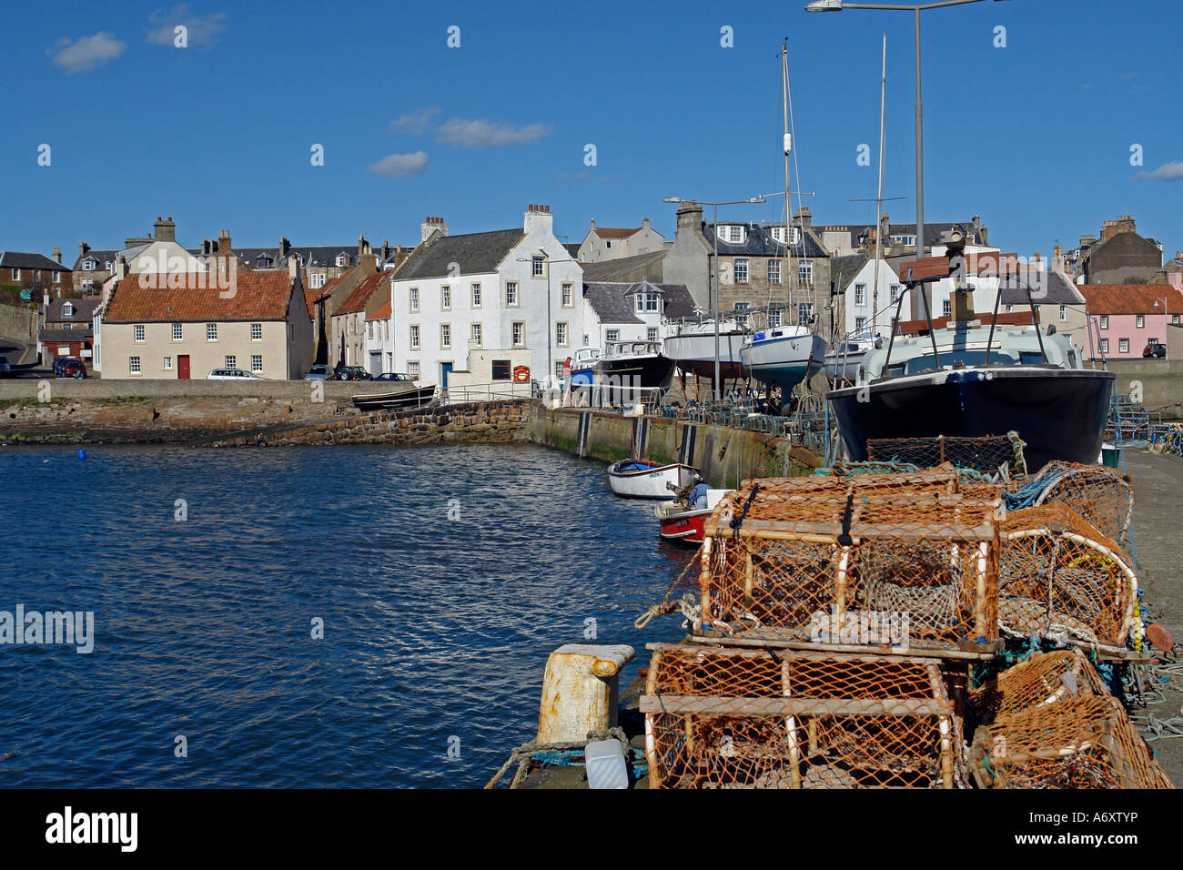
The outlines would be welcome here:
[[[149,281],[149,276],[157,281]],[[103,320],[108,323],[285,320],[291,298],[292,279],[286,271],[241,270],[235,272],[232,286],[225,289],[215,276],[201,272],[129,275],[116,286]]]

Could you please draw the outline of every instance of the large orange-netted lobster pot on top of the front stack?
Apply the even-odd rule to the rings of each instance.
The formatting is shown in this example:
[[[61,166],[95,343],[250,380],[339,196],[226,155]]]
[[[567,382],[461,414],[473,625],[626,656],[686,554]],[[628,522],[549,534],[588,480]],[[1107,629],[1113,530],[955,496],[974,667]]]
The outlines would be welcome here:
[[[997,491],[870,477],[729,494],[705,524],[704,625],[842,645],[996,639]]]

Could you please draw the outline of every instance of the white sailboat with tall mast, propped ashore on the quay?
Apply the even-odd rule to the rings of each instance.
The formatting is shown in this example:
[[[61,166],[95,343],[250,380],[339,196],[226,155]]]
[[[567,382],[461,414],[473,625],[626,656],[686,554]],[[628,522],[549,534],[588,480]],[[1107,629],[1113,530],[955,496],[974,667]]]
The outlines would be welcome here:
[[[797,281],[793,268],[793,207],[789,186],[789,154],[793,152],[793,133],[789,129],[789,49],[781,46],[781,88],[784,114],[784,253],[788,262],[789,312],[796,310],[793,298],[793,282]],[[800,172],[797,173],[800,185]],[[801,238],[804,251],[804,236]],[[739,361],[754,379],[778,386],[788,399],[789,393],[801,381],[810,378],[825,366],[826,342],[804,324],[786,324],[754,333],[739,348]]]

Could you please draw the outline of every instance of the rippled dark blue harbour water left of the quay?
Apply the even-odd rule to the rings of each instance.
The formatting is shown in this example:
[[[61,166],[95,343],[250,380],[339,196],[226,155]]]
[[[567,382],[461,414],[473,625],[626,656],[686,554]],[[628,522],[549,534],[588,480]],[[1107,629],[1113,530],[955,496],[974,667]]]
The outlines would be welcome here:
[[[636,647],[622,684],[677,637],[635,602],[690,558],[534,446],[4,447],[0,491],[0,611],[96,636],[0,645],[5,786],[479,786],[586,619]]]

